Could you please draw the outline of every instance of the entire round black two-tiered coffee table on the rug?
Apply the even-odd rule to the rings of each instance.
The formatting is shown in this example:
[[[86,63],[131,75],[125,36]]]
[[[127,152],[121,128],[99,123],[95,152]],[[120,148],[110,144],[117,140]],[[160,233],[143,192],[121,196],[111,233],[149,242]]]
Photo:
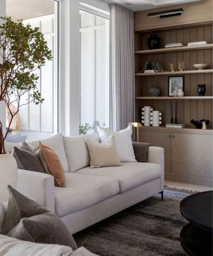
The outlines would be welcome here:
[[[196,193],[180,202],[180,213],[188,223],[180,232],[180,243],[191,256],[212,256],[213,191]]]

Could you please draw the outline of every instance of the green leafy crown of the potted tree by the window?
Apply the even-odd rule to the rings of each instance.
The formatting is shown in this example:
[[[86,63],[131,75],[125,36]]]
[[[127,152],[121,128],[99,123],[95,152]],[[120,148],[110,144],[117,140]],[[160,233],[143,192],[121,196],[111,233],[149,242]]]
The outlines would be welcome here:
[[[36,104],[44,99],[37,89],[39,76],[36,69],[41,69],[52,54],[39,27],[24,25],[22,20],[14,22],[11,17],[1,17],[0,25],[0,64],[1,97],[19,96],[28,93],[28,101]],[[0,98],[0,101],[2,100]]]

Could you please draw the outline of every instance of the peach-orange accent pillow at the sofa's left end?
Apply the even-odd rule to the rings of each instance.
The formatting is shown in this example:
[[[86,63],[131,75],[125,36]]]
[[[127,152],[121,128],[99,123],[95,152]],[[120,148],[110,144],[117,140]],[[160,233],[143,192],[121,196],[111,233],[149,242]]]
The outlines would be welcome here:
[[[48,167],[51,175],[53,175],[53,177],[57,183],[56,185],[64,187],[65,171],[63,169],[63,165],[62,165],[59,157],[57,156],[55,151],[53,151],[53,149],[43,145],[41,143],[41,141],[39,141],[39,148],[41,149],[43,156],[45,157],[45,161],[47,163],[47,167]]]

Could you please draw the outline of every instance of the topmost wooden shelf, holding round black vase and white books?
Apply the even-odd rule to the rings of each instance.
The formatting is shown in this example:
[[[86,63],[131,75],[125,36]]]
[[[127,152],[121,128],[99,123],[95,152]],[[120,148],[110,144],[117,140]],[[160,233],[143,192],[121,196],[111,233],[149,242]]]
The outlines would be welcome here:
[[[170,47],[170,48],[162,48],[162,49],[154,49],[154,50],[143,50],[143,51],[135,51],[136,54],[155,54],[155,53],[172,53],[178,51],[196,51],[196,50],[205,50],[205,49],[213,49],[213,43],[208,43],[207,45],[199,45],[196,47]]]

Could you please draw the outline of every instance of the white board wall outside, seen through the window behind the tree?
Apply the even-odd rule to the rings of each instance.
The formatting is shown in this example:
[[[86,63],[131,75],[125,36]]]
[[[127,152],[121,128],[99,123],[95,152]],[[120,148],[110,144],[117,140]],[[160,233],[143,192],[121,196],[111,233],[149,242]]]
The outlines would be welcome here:
[[[53,15],[26,20],[24,23],[29,23],[33,28],[40,28],[53,54]],[[21,107],[19,118],[20,129],[23,131],[53,133],[53,66],[54,61],[47,61],[45,66],[35,71],[39,75],[37,87],[45,101],[43,101],[43,104],[30,103]],[[26,97],[22,99],[23,103],[25,101]]]

